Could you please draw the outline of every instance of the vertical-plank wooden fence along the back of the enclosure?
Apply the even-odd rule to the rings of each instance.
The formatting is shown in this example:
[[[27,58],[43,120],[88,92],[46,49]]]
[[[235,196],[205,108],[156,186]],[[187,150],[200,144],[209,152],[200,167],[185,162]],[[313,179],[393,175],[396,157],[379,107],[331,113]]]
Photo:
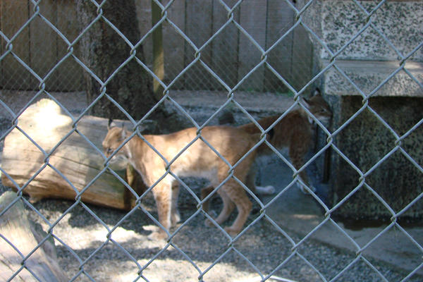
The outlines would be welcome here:
[[[151,1],[135,0],[141,35],[152,27]],[[226,1],[233,6],[237,1]],[[42,0],[40,13],[57,27],[69,41],[81,30],[75,1]],[[9,39],[33,15],[34,6],[27,0],[0,1],[0,30]],[[217,0],[175,1],[167,11],[168,18],[192,40],[202,46],[226,23],[228,12]],[[245,0],[235,9],[234,19],[257,43],[268,49],[293,25],[294,13],[286,1]],[[67,53],[68,46],[41,18],[35,18],[13,40],[13,52],[41,78],[56,66]],[[144,45],[147,66],[152,65],[152,37]],[[195,51],[169,25],[163,25],[164,71],[166,82],[176,78],[195,59]],[[75,45],[78,49],[78,44]],[[1,38],[0,52],[6,51]],[[298,27],[290,32],[268,55],[267,61],[291,85],[300,88],[312,77],[312,44],[307,32]],[[229,86],[236,85],[254,68],[262,54],[251,40],[235,25],[226,27],[201,52],[201,59]],[[8,90],[37,90],[38,80],[11,54],[0,61],[0,88]],[[72,58],[67,59],[46,81],[50,91],[83,90],[83,69]],[[223,90],[223,87],[200,63],[195,64],[173,85],[178,90]],[[260,67],[240,87],[258,92],[285,92],[286,87],[269,69]]]

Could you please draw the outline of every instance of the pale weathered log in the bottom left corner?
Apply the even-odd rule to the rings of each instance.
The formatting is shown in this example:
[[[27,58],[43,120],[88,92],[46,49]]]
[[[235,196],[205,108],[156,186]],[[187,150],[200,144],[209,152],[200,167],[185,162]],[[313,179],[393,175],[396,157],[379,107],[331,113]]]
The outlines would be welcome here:
[[[8,208],[12,202],[14,204]],[[14,276],[13,281],[68,281],[57,263],[52,239],[36,248],[47,233],[35,230],[27,219],[22,201],[16,201],[15,192],[8,191],[0,196],[0,214],[3,212],[0,216],[0,280],[8,281]]]

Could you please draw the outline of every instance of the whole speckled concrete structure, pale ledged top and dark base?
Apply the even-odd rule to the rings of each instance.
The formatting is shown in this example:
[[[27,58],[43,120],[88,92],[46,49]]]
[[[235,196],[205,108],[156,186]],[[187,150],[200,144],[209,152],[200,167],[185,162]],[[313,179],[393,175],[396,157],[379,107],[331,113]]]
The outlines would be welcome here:
[[[299,8],[308,2],[299,1]],[[335,212],[350,219],[390,219],[386,204],[398,213],[423,192],[423,126],[401,142],[419,168],[398,148],[384,159],[396,148],[395,133],[404,135],[423,118],[423,1],[386,1],[372,12],[379,2],[316,0],[301,15],[314,32],[316,73],[336,64],[320,77],[333,109],[332,131],[362,109],[362,94],[372,95],[369,106],[379,115],[364,109],[334,139],[355,167],[332,152],[328,204],[361,185]],[[402,216],[422,219],[422,208],[417,201]]]

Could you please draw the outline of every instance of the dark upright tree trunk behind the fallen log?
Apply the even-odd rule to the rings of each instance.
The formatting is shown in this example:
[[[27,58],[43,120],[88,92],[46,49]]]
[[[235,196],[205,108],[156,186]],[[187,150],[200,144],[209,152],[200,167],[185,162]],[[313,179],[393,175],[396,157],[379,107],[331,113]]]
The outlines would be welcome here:
[[[90,1],[78,0],[77,5],[82,32],[97,17],[99,11]],[[102,15],[132,44],[135,45],[141,39],[135,1],[106,1],[102,6]],[[100,18],[82,35],[80,51],[81,61],[103,82],[130,58],[130,47],[104,18]],[[140,61],[145,61],[142,44],[136,49],[136,56]],[[100,85],[88,72],[85,72],[85,84],[88,101],[92,102],[101,93]],[[123,106],[123,109],[135,119],[142,118],[157,103],[152,92],[152,77],[135,61],[135,58],[111,78],[106,85],[106,94]],[[162,115],[161,111],[160,107],[156,115]],[[127,119],[123,112],[106,98],[94,104],[91,114],[104,118]]]

